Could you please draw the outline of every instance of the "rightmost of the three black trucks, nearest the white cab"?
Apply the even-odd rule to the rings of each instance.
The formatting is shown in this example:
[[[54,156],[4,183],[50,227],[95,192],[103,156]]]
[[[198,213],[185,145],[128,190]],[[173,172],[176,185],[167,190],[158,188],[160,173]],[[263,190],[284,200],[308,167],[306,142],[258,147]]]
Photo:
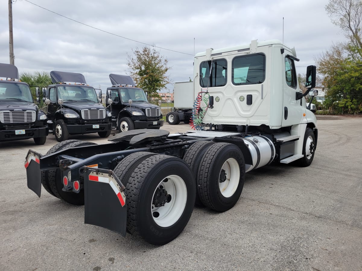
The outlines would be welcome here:
[[[119,132],[134,129],[160,129],[161,108],[148,103],[143,89],[135,87],[130,76],[110,74],[112,86],[107,88],[106,106],[112,114],[112,127]]]

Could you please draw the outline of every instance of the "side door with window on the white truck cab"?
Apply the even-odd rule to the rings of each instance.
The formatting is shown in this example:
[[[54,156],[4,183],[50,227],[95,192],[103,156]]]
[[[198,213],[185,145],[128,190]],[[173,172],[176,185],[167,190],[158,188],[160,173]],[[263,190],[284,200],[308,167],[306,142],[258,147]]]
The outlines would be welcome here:
[[[282,126],[290,126],[302,121],[303,108],[300,106],[300,100],[295,99],[299,86],[294,60],[287,54],[284,55],[284,60]]]

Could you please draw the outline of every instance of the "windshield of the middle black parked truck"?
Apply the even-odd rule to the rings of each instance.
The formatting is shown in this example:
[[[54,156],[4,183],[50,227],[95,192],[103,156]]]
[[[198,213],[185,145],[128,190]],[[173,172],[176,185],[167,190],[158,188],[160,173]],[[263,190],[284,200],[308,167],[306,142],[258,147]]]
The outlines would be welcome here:
[[[73,102],[99,103],[96,91],[88,86],[58,86],[58,98]]]

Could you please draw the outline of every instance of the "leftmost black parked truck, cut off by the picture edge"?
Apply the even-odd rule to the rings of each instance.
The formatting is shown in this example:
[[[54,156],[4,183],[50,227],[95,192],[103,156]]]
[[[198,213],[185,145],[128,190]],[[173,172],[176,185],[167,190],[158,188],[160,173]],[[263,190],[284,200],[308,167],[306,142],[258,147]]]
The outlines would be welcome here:
[[[0,141],[33,138],[35,144],[46,142],[47,116],[34,103],[29,85],[18,81],[14,65],[0,63]],[[37,96],[39,88],[36,89]]]

